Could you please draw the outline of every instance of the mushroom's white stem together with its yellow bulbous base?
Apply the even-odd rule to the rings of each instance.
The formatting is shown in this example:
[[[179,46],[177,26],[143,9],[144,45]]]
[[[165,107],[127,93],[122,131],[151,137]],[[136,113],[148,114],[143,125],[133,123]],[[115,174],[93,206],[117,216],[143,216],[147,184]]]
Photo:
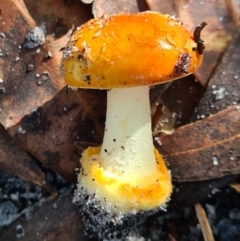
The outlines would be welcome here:
[[[171,176],[153,146],[149,86],[108,91],[103,144],[87,148],[81,166],[76,201],[87,197],[113,215],[165,204]]]

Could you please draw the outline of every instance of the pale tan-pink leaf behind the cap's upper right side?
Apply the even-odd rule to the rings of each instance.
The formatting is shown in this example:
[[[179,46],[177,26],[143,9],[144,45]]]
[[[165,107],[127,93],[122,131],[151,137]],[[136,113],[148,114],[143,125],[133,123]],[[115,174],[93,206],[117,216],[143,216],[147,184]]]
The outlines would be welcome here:
[[[146,2],[151,10],[176,16],[189,30],[193,31],[203,21],[208,23],[201,34],[206,45],[204,61],[196,73],[202,85],[206,85],[236,31],[232,12],[229,11],[225,0]]]

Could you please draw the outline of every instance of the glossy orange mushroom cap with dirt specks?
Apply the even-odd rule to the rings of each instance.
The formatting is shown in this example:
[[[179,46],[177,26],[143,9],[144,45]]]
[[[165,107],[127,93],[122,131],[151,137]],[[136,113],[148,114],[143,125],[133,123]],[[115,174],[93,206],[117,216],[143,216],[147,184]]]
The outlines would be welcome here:
[[[191,74],[202,62],[181,22],[150,11],[90,20],[63,51],[65,81],[81,88],[164,83]]]

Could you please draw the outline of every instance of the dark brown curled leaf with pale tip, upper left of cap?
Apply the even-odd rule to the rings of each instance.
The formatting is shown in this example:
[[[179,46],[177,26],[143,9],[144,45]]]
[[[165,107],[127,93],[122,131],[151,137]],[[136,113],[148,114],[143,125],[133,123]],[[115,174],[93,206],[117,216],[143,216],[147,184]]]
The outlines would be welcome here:
[[[80,0],[24,0],[24,2],[37,25],[45,24],[47,47],[58,68],[62,58],[62,52],[59,50],[67,43],[72,31],[92,18],[91,6],[81,3]]]

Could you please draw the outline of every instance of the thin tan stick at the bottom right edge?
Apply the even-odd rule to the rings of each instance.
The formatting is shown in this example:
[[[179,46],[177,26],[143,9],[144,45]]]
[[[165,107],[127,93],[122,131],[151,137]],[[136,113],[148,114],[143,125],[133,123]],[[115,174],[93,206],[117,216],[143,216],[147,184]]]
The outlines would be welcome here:
[[[207,215],[200,203],[195,204],[198,221],[203,233],[204,241],[215,241]]]

